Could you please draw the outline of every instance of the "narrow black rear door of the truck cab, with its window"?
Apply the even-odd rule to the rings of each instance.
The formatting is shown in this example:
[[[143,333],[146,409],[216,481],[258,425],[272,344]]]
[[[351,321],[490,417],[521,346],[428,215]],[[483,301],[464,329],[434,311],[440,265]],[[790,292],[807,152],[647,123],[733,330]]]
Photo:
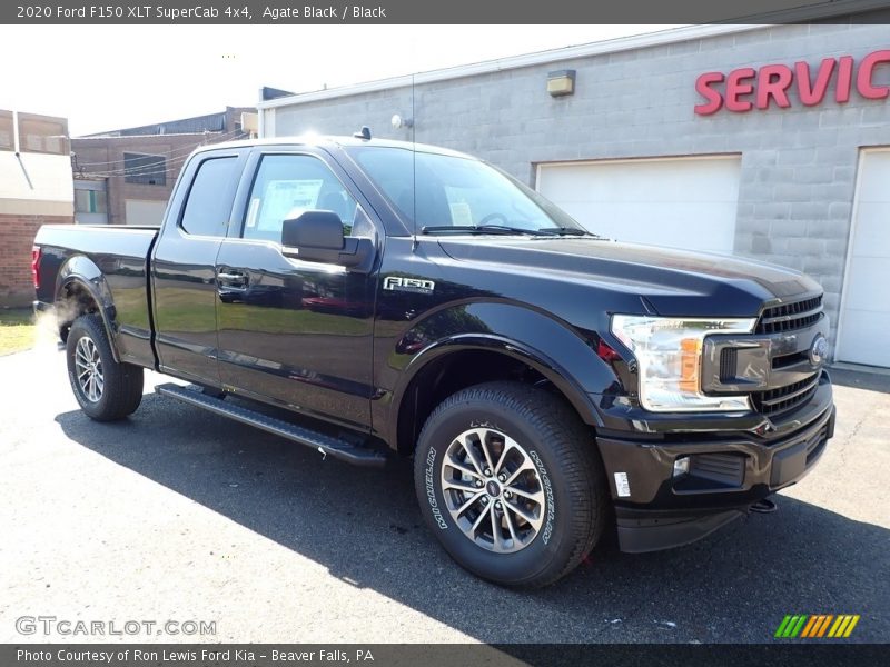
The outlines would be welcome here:
[[[219,386],[216,257],[247,156],[247,149],[212,151],[189,161],[151,265],[160,368],[211,386]]]

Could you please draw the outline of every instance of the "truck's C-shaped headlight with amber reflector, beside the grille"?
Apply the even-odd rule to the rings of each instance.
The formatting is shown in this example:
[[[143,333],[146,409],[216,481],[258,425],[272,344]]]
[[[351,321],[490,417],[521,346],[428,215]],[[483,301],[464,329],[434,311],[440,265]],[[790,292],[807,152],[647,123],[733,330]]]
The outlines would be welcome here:
[[[654,412],[749,410],[748,396],[701,392],[702,346],[710,334],[750,334],[756,319],[612,316],[612,332],[640,367],[640,402]]]

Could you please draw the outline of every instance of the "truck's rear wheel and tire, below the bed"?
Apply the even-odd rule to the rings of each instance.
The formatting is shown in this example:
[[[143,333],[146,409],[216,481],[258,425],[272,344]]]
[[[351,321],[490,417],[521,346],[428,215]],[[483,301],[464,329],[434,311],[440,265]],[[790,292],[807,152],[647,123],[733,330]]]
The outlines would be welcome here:
[[[68,380],[77,402],[88,417],[97,421],[115,421],[136,411],[142,400],[142,368],[115,361],[108,334],[98,315],[82,315],[77,318],[68,332],[66,345]],[[90,377],[90,372],[95,376],[98,371],[96,377],[101,379],[100,389],[98,382],[88,382],[85,387],[78,379],[85,377],[85,352],[92,364],[92,371],[86,371],[87,377]]]

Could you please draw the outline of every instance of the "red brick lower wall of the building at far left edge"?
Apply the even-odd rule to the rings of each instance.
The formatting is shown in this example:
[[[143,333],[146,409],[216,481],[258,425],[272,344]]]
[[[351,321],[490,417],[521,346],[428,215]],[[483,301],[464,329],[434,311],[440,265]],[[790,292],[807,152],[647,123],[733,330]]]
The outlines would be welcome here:
[[[71,216],[0,215],[0,308],[30,306],[34,300],[31,248],[41,225],[70,225]]]

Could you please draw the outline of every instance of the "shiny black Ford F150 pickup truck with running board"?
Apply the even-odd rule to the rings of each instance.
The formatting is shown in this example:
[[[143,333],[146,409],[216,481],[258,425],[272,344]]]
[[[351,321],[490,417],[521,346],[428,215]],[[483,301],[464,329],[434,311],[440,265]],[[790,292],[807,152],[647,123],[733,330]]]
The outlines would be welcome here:
[[[36,308],[103,421],[157,391],[359,465],[414,457],[454,559],[510,586],[696,540],[833,435],[819,285],[616,243],[471,157],[364,138],[197,150],[160,229],[43,227]]]

